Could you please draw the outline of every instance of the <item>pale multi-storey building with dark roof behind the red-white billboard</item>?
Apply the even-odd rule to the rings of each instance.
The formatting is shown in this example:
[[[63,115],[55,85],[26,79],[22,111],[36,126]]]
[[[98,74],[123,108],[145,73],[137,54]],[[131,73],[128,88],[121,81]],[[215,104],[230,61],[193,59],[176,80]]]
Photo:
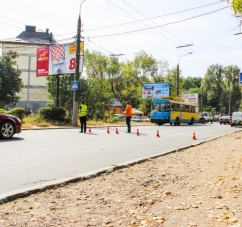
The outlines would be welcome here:
[[[46,77],[36,77],[37,48],[57,44],[49,29],[36,30],[36,26],[25,26],[25,31],[16,38],[0,40],[2,55],[10,50],[18,53],[17,67],[21,71],[24,88],[18,93],[20,101],[17,106],[25,108],[26,112],[37,112],[46,106]],[[1,56],[0,56],[1,57]]]

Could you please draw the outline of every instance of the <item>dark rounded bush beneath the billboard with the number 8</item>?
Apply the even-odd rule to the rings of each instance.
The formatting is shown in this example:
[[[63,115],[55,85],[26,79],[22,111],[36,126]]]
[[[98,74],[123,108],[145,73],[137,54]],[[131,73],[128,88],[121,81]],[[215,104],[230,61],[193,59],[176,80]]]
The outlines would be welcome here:
[[[63,108],[44,107],[38,113],[45,120],[65,121],[66,111]]]

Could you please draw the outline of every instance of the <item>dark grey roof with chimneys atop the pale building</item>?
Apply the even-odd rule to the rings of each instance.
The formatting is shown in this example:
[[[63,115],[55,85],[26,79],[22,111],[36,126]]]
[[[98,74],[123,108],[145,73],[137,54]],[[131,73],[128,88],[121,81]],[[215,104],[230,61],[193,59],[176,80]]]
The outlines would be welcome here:
[[[31,44],[57,44],[49,29],[46,31],[36,30],[36,26],[25,26],[25,31],[21,32],[16,38],[2,40],[3,43],[31,43]]]

